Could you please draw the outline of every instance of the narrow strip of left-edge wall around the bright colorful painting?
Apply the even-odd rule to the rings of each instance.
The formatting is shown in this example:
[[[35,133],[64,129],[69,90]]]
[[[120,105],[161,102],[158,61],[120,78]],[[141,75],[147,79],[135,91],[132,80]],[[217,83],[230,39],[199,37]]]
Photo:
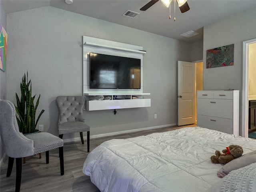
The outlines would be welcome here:
[[[6,30],[6,13],[4,10],[4,6],[1,4],[0,1],[0,30],[2,30],[2,27]],[[6,30],[7,34],[8,31]],[[6,70],[7,70],[7,65],[6,65]],[[3,72],[0,70],[0,99],[6,99],[6,72]],[[1,106],[0,106],[1,107]],[[0,108],[1,110],[1,108]],[[0,162],[2,161],[3,157],[3,150],[2,150],[2,143],[1,143],[1,138],[0,138]]]

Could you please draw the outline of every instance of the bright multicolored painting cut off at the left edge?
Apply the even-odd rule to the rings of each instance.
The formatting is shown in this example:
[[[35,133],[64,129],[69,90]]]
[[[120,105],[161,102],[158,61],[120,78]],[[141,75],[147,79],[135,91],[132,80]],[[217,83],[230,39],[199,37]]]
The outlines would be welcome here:
[[[2,27],[0,34],[0,69],[6,70],[6,55],[7,55],[7,33]]]

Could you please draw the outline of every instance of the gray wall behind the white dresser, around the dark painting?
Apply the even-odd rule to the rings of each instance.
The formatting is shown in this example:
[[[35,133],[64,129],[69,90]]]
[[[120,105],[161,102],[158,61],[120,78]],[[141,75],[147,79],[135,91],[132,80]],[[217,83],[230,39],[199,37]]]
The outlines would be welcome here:
[[[243,41],[256,38],[256,7],[204,27],[204,90],[240,90],[242,126]],[[206,50],[234,44],[234,66],[206,69]]]

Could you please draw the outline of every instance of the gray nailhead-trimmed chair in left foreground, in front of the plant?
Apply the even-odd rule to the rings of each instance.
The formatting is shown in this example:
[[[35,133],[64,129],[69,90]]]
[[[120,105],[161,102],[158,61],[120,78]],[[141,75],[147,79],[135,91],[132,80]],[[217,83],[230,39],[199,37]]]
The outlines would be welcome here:
[[[59,148],[60,174],[64,175],[63,140],[47,132],[24,136],[18,128],[15,106],[8,100],[0,100],[0,135],[3,149],[9,156],[7,177],[12,173],[16,158],[15,192],[20,191],[22,157],[46,152],[46,164],[48,164],[49,150]]]

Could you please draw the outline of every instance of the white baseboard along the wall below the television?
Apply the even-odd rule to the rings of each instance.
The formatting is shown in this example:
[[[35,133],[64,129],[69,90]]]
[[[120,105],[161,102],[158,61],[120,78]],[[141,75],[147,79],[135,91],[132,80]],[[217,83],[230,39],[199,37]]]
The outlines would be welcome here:
[[[132,133],[132,132],[138,132],[138,131],[144,131],[144,130],[150,130],[150,129],[157,129],[157,128],[163,128],[163,127],[171,127],[171,126],[176,126],[176,125],[177,124],[175,123],[175,124],[160,125],[160,126],[146,127],[146,128],[140,128],[140,129],[132,129],[132,130],[126,130],[126,131],[118,131],[118,132],[112,132],[112,133],[104,133],[104,134],[92,135],[92,136],[90,136],[90,139],[108,137],[108,136],[113,136],[113,135],[120,135],[120,134],[126,134],[126,133]],[[80,137],[63,139],[64,143],[80,141],[80,140],[81,140]],[[86,136],[84,136],[84,140],[87,140]]]

